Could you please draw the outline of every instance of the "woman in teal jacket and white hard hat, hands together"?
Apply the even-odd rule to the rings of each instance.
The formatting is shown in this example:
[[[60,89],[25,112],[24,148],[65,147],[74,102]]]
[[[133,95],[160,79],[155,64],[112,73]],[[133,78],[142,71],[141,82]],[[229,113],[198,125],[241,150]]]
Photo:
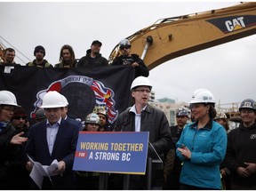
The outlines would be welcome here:
[[[199,89],[190,101],[195,122],[188,124],[176,144],[183,161],[180,189],[221,189],[220,163],[227,148],[224,127],[213,121],[216,116],[212,92]]]

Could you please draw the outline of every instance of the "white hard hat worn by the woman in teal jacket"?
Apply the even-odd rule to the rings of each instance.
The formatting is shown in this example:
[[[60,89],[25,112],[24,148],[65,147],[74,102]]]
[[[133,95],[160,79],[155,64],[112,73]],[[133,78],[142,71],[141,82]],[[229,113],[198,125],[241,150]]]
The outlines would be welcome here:
[[[216,101],[212,95],[212,92],[206,89],[199,89],[194,92],[192,95],[192,100],[189,102],[190,104],[193,103],[213,103],[215,104]]]

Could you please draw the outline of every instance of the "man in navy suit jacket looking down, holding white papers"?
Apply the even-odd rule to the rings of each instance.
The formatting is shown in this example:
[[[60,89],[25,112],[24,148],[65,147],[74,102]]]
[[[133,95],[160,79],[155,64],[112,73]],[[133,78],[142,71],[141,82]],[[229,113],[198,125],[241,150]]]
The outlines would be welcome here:
[[[59,167],[53,173],[51,180],[44,177],[42,189],[74,189],[75,174],[72,171],[79,125],[72,124],[61,118],[66,106],[63,96],[59,92],[47,92],[43,98],[46,120],[34,124],[29,128],[27,154],[34,161],[43,165],[50,165],[54,159]],[[33,168],[28,161],[28,171]],[[38,188],[34,182],[31,188]]]

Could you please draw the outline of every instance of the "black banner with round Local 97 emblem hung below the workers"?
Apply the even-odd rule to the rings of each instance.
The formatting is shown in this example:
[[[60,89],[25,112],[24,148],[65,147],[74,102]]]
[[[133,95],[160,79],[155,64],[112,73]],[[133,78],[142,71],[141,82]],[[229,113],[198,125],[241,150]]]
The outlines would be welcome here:
[[[68,99],[68,116],[80,118],[95,106],[105,106],[110,123],[130,105],[133,68],[109,66],[96,68],[36,68],[0,66],[0,90],[13,92],[28,116],[35,116],[44,94],[57,91]]]

